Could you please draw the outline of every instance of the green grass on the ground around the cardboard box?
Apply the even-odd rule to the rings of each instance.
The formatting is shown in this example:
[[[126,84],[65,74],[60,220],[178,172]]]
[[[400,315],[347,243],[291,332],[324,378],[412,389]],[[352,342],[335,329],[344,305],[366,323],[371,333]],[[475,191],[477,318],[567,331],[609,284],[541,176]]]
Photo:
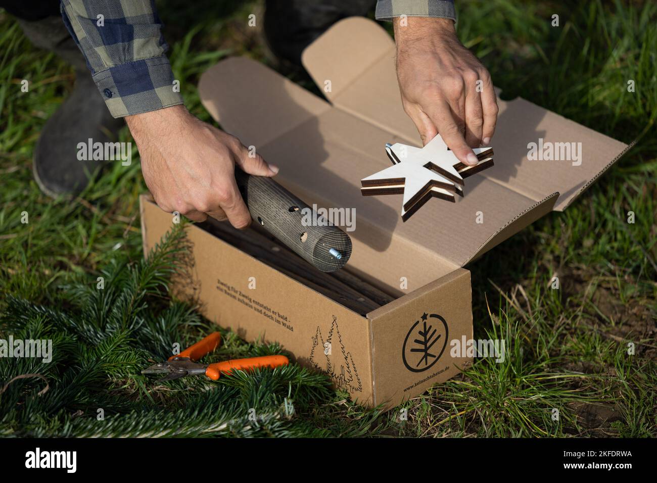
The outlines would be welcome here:
[[[203,16],[197,14],[198,5],[187,4],[168,2],[160,14],[171,25],[165,34],[187,106],[210,120],[196,94],[200,72],[225,55],[265,60],[256,33],[246,28],[253,2],[219,6],[205,2],[202,7],[208,14]],[[478,359],[461,377],[388,413],[354,405],[345,394],[327,388],[326,380],[302,371],[292,417],[281,419],[272,409],[273,419],[263,426],[268,430],[210,434],[657,435],[657,7],[650,2],[591,1],[566,8],[551,1],[491,0],[457,2],[457,9],[459,36],[482,58],[495,85],[503,90],[503,99],[522,96],[625,143],[637,139],[637,145],[566,212],[533,223],[468,267],[475,338],[505,338],[504,363]],[[558,27],[551,26],[553,14],[559,15]],[[2,13],[0,52],[0,309],[16,310],[12,304],[18,302],[12,300],[18,298],[31,307],[78,313],[62,287],[90,283],[119,260],[132,264],[140,260],[137,196],[145,186],[137,163],[115,164],[79,198],[51,200],[42,195],[32,181],[32,149],[45,120],[70,91],[72,70],[32,47],[16,22]],[[20,91],[23,79],[30,81],[28,93]],[[312,87],[307,78],[295,80]],[[635,92],[627,91],[628,80],[635,81]],[[120,137],[129,141],[127,129]],[[135,150],[133,159],[137,156]],[[635,214],[633,224],[627,223],[629,211]],[[24,212],[27,224],[21,223]],[[551,289],[555,275],[559,290]],[[177,302],[164,300],[162,312],[153,316],[183,310],[175,309]],[[172,323],[160,334],[179,331],[189,341],[208,329],[193,313],[188,315],[194,323]],[[180,314],[172,320],[181,320]],[[39,327],[35,320],[30,323]],[[7,334],[11,327],[12,322],[5,321],[0,333]],[[66,327],[52,330],[56,339],[74,333]],[[91,350],[91,342],[76,334],[80,344]],[[246,344],[235,334],[224,335],[230,354],[267,350]],[[628,342],[634,344],[632,356],[627,354]],[[137,347],[134,342],[125,344]],[[65,343],[62,351],[79,357]],[[150,354],[157,354],[156,349]],[[145,382],[136,375],[141,367],[137,362],[141,363],[138,357],[124,373],[106,368],[97,376],[102,384],[92,378],[81,389],[94,404],[99,403],[103,384],[110,384],[107,398],[121,396],[108,407],[121,415],[125,426],[106,434],[128,434],[126,428],[134,427],[133,420],[147,426],[148,417],[162,417],[158,407],[166,412],[182,397],[172,396],[167,387],[147,390],[140,385]],[[0,361],[3,379],[19,373],[5,364]],[[285,379],[272,384],[281,380]],[[38,382],[20,384],[38,386]],[[248,380],[215,384],[219,390],[208,402],[221,408],[217,422],[231,421],[238,408],[259,401],[275,408],[292,387],[277,385],[270,400]],[[9,400],[7,394],[0,396],[0,402]],[[122,406],[121,398],[143,400],[147,410],[155,412],[150,416],[131,412],[134,408]],[[88,411],[84,404],[67,404],[57,411]],[[553,419],[555,409],[558,421]],[[57,411],[39,413],[51,418],[43,421],[30,417],[26,409],[12,412],[6,435],[62,434],[63,426],[58,424],[68,420]],[[400,418],[403,414],[405,420]],[[179,434],[205,434],[201,423],[208,417],[198,409],[198,418]],[[175,418],[171,422],[179,424]],[[97,431],[92,423],[75,424],[78,432],[70,434]]]

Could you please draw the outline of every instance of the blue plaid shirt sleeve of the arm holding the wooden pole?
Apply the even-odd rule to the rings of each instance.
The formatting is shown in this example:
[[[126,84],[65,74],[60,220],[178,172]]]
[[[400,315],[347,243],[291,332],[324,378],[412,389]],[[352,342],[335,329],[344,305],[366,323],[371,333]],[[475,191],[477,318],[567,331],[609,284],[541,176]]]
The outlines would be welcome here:
[[[112,116],[183,103],[153,0],[61,0],[60,8]]]

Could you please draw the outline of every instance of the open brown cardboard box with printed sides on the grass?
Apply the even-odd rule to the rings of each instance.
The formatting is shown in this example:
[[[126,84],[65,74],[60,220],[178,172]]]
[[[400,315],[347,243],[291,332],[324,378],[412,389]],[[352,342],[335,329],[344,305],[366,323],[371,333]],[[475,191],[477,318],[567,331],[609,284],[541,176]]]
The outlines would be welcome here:
[[[219,62],[199,91],[226,131],[280,166],[279,183],[308,204],[355,208],[346,269],[396,300],[360,315],[198,226],[188,232],[192,278],[180,287],[222,327],[246,340],[277,340],[357,402],[385,407],[470,363],[454,357],[450,343],[472,338],[463,266],[551,210],[564,210],[628,148],[523,99],[498,101],[495,166],[468,178],[455,204],[430,200],[402,223],[399,196],[359,191],[363,177],[388,166],[385,143],[420,145],[401,107],[394,56],[394,42],[378,24],[348,18],[303,55],[329,102],[247,58]],[[529,143],[542,160],[528,159]],[[570,159],[545,159],[551,149],[553,158]],[[171,215],[147,197],[141,215],[148,252],[170,229]]]

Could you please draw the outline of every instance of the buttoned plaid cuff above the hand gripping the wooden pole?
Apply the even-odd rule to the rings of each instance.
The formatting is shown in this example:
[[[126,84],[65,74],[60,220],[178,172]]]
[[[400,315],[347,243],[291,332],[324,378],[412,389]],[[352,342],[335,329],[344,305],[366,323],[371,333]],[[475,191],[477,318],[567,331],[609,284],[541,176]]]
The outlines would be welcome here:
[[[110,114],[123,118],[183,104],[179,83],[166,57],[119,64],[93,75]]]

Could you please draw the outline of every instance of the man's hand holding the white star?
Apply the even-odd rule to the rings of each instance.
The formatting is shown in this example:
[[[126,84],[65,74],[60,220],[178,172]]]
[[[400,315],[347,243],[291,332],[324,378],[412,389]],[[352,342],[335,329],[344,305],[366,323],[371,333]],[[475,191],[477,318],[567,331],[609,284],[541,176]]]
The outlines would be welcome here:
[[[463,47],[452,20],[407,17],[405,21],[403,26],[400,18],[394,19],[397,80],[406,114],[423,144],[440,133],[459,161],[477,164],[470,148],[488,145],[497,122],[497,99],[488,71]]]

